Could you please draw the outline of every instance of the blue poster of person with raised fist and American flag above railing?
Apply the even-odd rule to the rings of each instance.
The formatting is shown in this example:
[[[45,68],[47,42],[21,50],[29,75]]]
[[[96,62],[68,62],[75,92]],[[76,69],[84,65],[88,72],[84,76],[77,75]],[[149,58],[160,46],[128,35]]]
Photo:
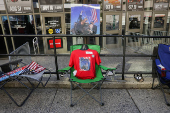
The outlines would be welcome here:
[[[100,34],[100,5],[72,5],[70,34]]]

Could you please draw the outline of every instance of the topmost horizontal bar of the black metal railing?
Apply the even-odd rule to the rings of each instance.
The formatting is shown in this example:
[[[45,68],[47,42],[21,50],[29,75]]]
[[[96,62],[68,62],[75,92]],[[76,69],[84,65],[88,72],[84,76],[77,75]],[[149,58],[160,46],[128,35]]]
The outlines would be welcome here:
[[[170,38],[170,36],[142,36],[142,35],[0,35],[0,37],[138,37],[138,38]]]

